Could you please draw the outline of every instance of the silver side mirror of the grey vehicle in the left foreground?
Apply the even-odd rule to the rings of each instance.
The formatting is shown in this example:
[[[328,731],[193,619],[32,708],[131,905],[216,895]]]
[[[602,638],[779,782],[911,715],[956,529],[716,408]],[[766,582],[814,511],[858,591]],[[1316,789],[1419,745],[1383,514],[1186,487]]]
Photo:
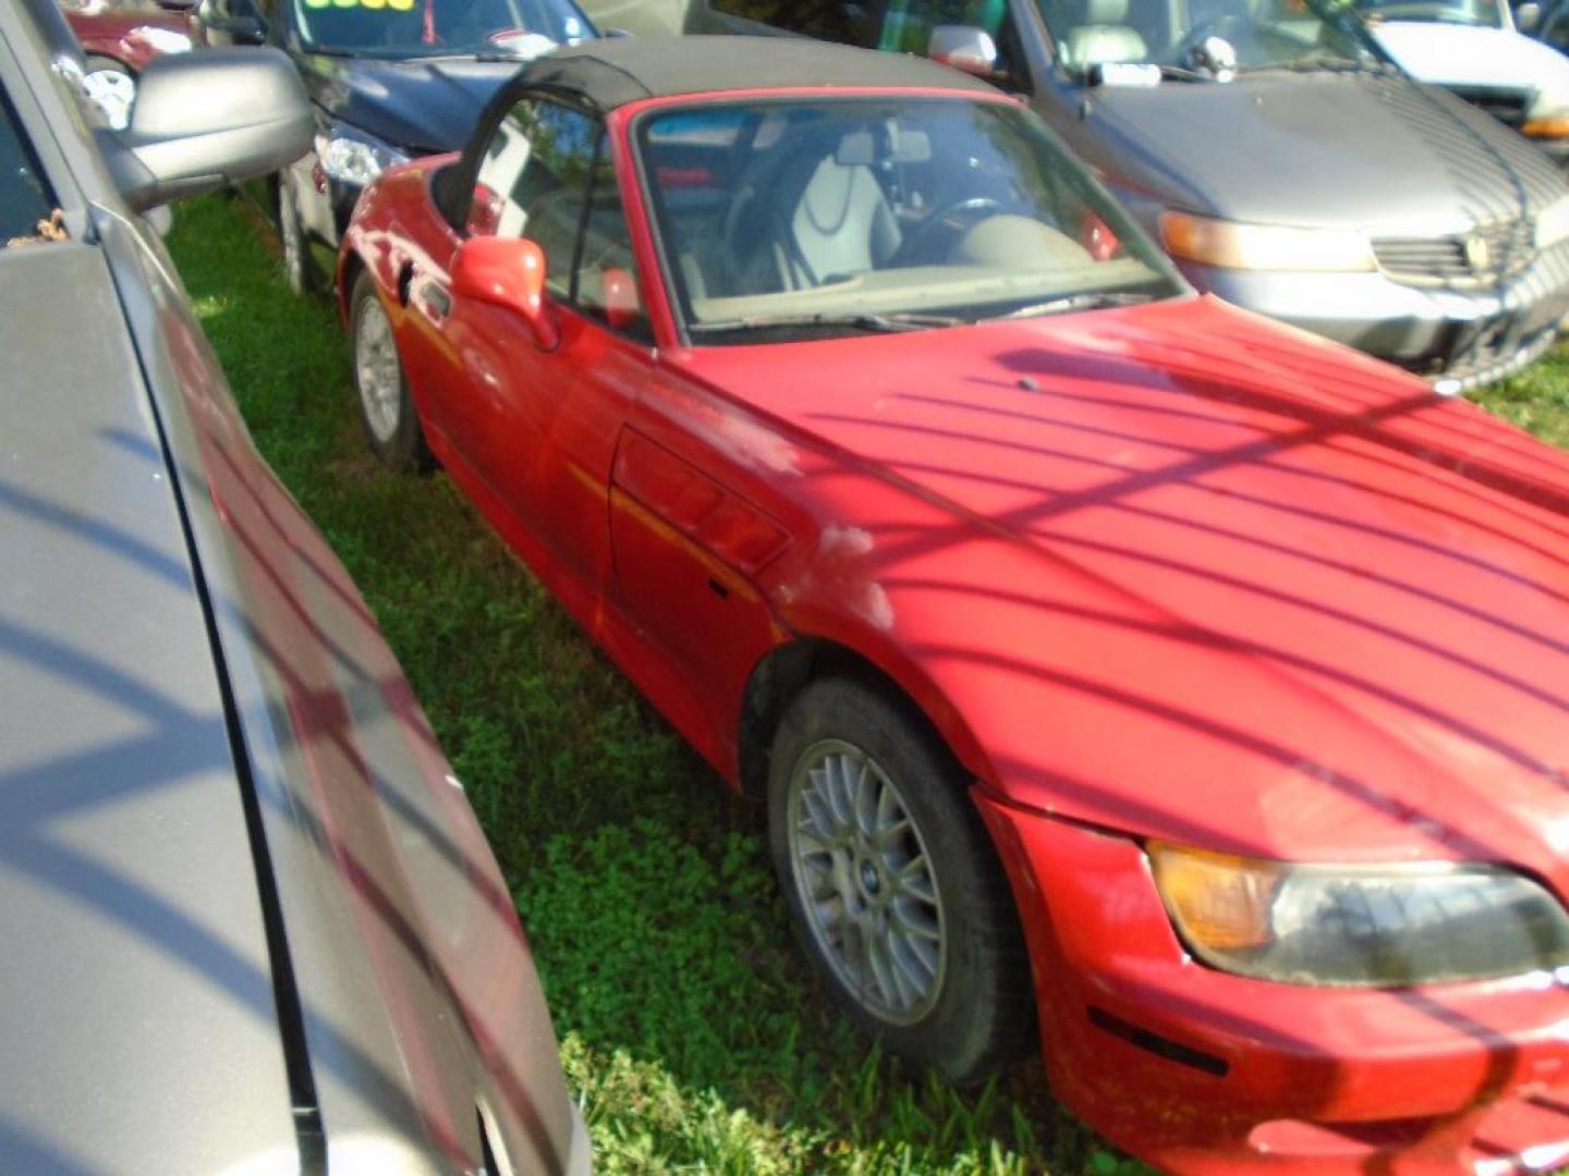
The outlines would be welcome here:
[[[276,49],[165,53],[143,72],[130,125],[104,140],[135,212],[268,176],[311,149],[304,85]]]

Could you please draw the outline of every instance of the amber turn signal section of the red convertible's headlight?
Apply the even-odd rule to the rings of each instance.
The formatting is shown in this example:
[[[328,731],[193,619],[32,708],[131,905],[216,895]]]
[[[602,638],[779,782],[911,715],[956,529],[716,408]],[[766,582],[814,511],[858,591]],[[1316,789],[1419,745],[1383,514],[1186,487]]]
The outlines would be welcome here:
[[[1269,942],[1269,911],[1285,872],[1230,853],[1149,844],[1155,883],[1177,927],[1199,949],[1235,952]]]

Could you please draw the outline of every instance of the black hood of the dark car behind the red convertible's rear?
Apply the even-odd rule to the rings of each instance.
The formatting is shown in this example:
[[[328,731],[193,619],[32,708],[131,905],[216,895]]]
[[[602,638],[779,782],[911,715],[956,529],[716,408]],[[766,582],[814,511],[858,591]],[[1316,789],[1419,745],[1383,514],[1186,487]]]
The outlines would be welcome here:
[[[381,61],[309,53],[300,71],[334,119],[416,155],[457,151],[480,110],[522,66],[516,61]]]

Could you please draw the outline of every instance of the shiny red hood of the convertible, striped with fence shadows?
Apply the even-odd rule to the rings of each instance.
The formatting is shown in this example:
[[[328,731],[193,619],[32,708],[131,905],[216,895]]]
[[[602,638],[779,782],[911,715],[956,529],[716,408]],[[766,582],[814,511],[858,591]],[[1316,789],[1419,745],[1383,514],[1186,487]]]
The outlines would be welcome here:
[[[883,630],[1010,800],[1569,881],[1556,450],[1210,298],[673,362],[794,439],[775,602]]]

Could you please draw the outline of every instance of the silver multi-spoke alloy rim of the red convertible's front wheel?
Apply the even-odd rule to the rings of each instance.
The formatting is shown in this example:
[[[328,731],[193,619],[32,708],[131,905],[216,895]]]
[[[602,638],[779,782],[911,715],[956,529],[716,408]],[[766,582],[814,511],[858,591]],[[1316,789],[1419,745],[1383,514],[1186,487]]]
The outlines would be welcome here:
[[[795,762],[786,820],[795,892],[839,983],[880,1021],[927,1016],[943,991],[946,919],[897,786],[861,748],[822,740]]]

